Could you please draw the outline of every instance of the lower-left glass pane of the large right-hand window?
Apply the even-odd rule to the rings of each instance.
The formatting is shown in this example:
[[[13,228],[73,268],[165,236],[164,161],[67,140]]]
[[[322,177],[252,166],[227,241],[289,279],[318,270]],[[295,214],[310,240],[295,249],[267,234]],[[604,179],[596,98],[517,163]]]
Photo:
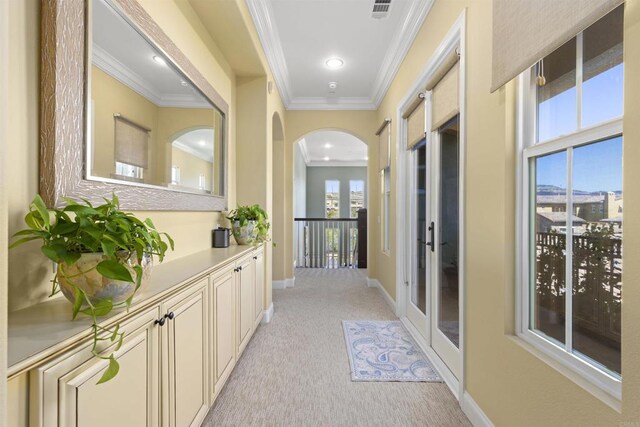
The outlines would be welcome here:
[[[565,341],[565,260],[567,231],[567,152],[531,161],[535,200],[531,205],[532,327]]]

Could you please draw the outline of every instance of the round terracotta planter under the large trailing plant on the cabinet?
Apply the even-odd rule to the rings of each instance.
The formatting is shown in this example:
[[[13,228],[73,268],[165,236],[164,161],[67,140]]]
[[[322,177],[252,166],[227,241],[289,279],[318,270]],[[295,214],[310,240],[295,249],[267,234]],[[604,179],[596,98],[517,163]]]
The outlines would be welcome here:
[[[120,256],[122,259],[126,259],[124,266],[131,273],[131,277],[135,279],[136,272],[133,267],[138,265],[137,257],[135,254],[129,256],[128,252],[122,252]],[[96,270],[96,266],[105,259],[107,257],[102,253],[88,253],[80,255],[80,259],[73,265],[59,264],[56,277],[63,295],[69,301],[74,301],[74,291],[71,285],[73,283],[89,297],[92,304],[105,299],[111,299],[113,304],[118,304],[129,299],[136,290],[135,281],[125,282],[102,276]],[[141,265],[143,271],[142,283],[138,291],[143,289],[149,281],[151,268],[153,267],[153,257],[150,254],[145,254]]]

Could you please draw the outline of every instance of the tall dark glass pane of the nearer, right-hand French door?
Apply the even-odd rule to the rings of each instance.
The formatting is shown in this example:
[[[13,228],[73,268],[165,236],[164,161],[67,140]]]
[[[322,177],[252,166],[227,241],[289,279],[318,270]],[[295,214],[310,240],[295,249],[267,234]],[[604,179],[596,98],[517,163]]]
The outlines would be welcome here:
[[[440,247],[438,256],[438,328],[459,346],[458,301],[459,246],[459,144],[458,118],[444,125],[440,133]]]

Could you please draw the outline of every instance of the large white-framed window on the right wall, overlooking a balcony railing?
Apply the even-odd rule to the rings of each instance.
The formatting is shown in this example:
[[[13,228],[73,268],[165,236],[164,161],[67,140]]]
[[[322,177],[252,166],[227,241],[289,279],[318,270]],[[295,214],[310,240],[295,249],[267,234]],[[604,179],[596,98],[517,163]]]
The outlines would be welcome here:
[[[525,72],[520,103],[518,333],[618,398],[622,23],[620,6]]]

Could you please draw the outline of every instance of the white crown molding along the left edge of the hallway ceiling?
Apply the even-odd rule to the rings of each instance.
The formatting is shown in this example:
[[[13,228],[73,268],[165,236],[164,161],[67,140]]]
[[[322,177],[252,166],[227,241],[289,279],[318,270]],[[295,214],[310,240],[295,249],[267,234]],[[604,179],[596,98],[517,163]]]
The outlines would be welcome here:
[[[258,32],[262,50],[271,67],[273,78],[280,90],[280,97],[285,107],[291,103],[291,87],[289,86],[289,69],[282,51],[280,35],[273,22],[271,3],[265,0],[246,0],[253,24]]]

